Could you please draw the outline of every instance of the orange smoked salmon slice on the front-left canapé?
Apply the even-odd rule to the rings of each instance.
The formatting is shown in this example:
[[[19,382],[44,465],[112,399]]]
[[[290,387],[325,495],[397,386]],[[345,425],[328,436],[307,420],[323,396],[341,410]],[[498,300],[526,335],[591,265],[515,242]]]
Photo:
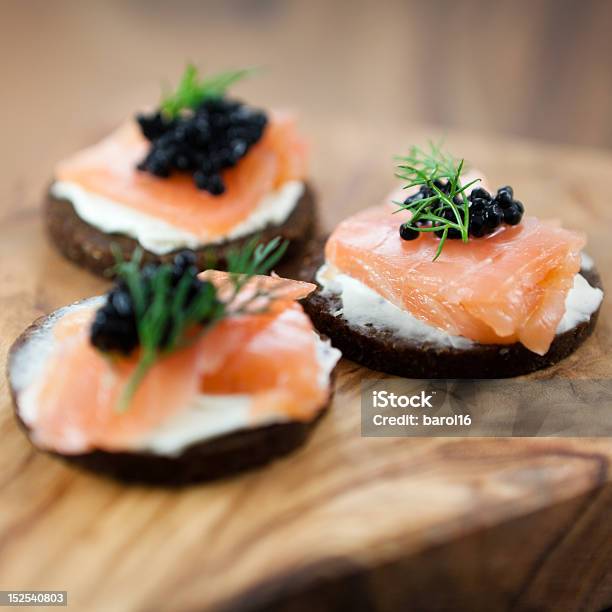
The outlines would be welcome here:
[[[224,273],[214,276],[227,280]],[[24,418],[36,443],[67,454],[133,448],[202,393],[248,394],[253,413],[312,419],[329,389],[320,382],[320,341],[293,298],[314,286],[259,280],[282,289],[272,308],[224,318],[192,345],[160,357],[122,412],[118,401],[139,355],[111,358],[92,346],[89,329],[99,304],[69,309],[53,326],[53,351],[40,380],[27,391],[36,396],[35,417]]]

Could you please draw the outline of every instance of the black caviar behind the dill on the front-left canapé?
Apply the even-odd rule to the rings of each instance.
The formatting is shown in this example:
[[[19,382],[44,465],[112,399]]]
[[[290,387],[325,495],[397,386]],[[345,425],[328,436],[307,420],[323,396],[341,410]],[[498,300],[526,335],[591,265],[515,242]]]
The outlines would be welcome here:
[[[195,255],[189,251],[179,253],[174,258],[170,284],[175,289],[185,274],[191,277],[191,285],[187,292],[186,306],[210,283],[197,277]],[[140,272],[141,284],[144,288],[145,302],[148,306],[153,298],[152,281],[159,265],[148,264]],[[170,295],[173,292],[170,291]],[[168,326],[163,333],[160,348],[165,348],[170,336]],[[104,352],[116,351],[129,355],[139,344],[136,313],[132,294],[125,281],[118,280],[106,296],[106,303],[96,312],[91,326],[91,343]]]

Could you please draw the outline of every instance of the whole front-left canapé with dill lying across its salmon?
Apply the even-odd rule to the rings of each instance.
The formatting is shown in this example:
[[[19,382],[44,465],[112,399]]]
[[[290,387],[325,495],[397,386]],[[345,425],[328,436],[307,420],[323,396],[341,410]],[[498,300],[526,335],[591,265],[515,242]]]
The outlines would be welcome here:
[[[261,276],[278,242],[230,270],[118,266],[114,287],[45,316],[13,345],[16,416],[34,446],[122,480],[184,484],[302,444],[340,357],[296,302],[314,286]]]

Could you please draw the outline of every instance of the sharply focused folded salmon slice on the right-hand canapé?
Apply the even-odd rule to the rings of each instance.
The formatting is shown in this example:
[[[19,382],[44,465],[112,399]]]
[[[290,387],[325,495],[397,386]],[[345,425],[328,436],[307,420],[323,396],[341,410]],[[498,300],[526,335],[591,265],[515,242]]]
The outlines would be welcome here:
[[[398,228],[410,213],[396,208],[376,206],[340,223],[327,263],[452,335],[548,351],[580,269],[583,234],[526,217],[468,244],[449,240],[434,262],[438,239],[402,240]]]

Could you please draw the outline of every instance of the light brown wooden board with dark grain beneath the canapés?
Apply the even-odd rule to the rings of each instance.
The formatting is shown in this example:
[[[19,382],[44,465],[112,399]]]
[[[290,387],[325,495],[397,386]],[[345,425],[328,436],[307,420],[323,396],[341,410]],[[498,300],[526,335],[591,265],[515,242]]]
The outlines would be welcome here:
[[[329,118],[311,126],[326,229],[394,186],[391,155],[432,135]],[[71,136],[83,145],[91,135]],[[78,141],[78,142],[77,142]],[[589,235],[612,287],[612,156],[453,133],[529,212]],[[2,357],[33,318],[106,286],[48,246],[47,176],[2,186]],[[612,309],[574,356],[539,376],[609,377]],[[305,448],[181,491],[126,487],[37,453],[2,381],[0,589],[62,589],[77,610],[599,610],[612,604],[612,440],[360,436],[359,385]]]

